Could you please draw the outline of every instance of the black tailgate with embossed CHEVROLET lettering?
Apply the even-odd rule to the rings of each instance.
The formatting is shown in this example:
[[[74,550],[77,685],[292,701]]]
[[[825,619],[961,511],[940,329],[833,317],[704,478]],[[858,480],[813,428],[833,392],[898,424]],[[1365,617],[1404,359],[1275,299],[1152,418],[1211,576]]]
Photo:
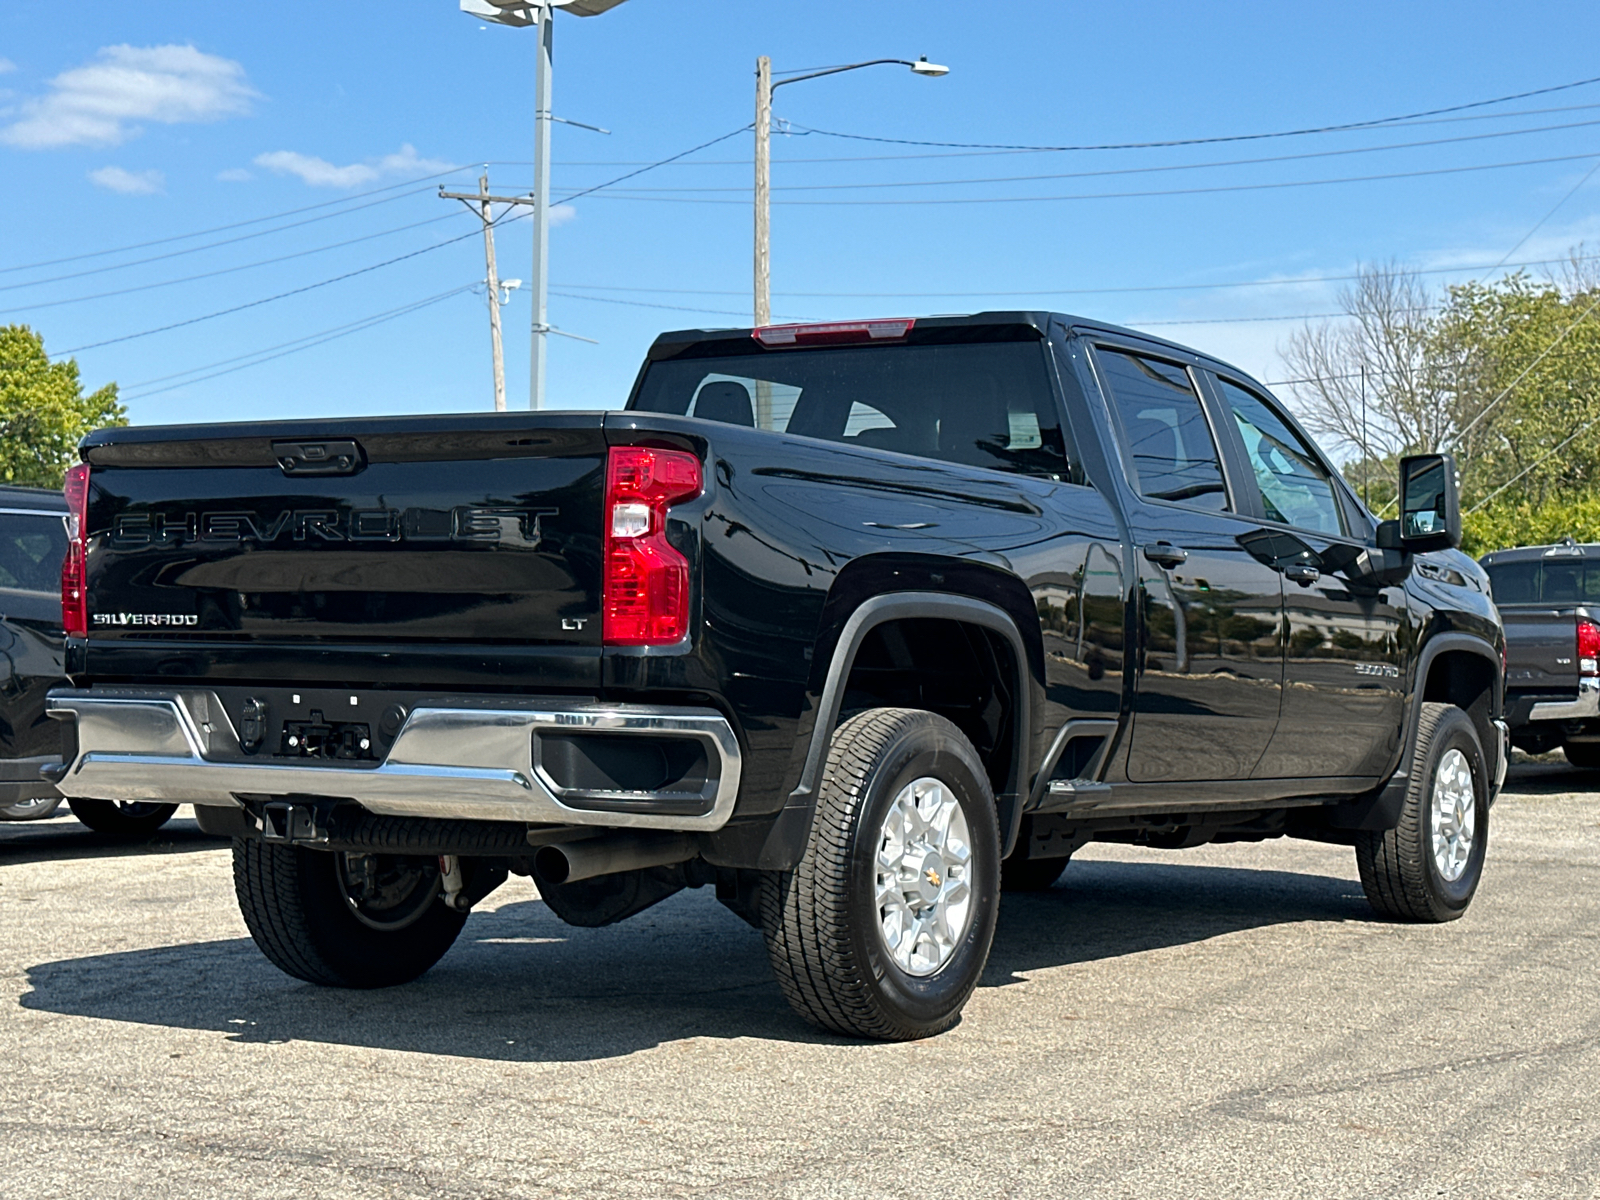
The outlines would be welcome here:
[[[91,651],[597,648],[605,454],[600,413],[96,434]]]

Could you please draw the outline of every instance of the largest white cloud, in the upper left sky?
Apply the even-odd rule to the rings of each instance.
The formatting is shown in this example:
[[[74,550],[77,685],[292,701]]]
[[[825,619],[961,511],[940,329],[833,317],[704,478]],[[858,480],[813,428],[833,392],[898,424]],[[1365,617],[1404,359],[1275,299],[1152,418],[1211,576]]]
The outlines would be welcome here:
[[[0,142],[24,150],[117,146],[134,122],[182,125],[237,117],[256,91],[232,59],[194,46],[106,46],[94,62],[50,80],[50,93],[24,101]]]

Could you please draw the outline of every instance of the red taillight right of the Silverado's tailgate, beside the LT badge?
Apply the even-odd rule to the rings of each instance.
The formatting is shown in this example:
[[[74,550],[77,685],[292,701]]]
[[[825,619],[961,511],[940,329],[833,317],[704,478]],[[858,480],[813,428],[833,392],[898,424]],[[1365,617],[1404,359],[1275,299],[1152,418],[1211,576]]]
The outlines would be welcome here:
[[[613,446],[605,482],[608,646],[662,646],[690,632],[690,565],[667,544],[667,509],[701,493],[699,459],[682,450]]]

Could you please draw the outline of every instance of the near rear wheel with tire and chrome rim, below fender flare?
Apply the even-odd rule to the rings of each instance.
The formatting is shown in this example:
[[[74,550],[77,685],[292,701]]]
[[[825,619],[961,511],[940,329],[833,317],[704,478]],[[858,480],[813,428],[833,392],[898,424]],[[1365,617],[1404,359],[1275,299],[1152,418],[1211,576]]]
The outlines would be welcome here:
[[[931,712],[872,709],[834,734],[805,856],[762,880],[762,928],[800,1016],[909,1040],[960,1018],[998,894],[995,803],[971,742]]]

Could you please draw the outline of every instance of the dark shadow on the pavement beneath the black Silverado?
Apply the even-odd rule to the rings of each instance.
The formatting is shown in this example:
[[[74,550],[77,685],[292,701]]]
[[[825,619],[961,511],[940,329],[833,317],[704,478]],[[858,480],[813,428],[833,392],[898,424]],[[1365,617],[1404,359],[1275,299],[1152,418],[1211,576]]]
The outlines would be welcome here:
[[[218,898],[218,902],[224,902]],[[984,987],[1280,923],[1370,915],[1360,885],[1237,867],[1074,862],[1048,893],[1006,896]],[[843,1043],[803,1024],[762,936],[709,891],[606,930],[538,899],[480,912],[422,979],[378,992],[280,974],[248,938],[40,963],[29,1010],[509,1062],[608,1059],[693,1037]]]

